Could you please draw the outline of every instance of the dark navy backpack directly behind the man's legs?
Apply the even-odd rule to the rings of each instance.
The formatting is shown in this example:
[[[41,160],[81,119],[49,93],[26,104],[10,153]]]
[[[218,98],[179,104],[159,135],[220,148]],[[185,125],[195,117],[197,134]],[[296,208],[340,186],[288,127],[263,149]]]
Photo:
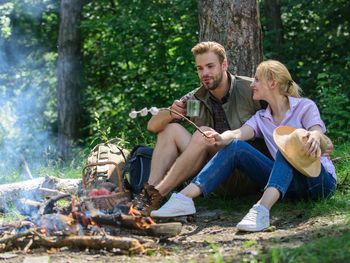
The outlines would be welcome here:
[[[151,171],[153,148],[137,145],[135,146],[126,161],[123,169],[125,187],[133,195],[141,192],[143,184],[148,181]]]

